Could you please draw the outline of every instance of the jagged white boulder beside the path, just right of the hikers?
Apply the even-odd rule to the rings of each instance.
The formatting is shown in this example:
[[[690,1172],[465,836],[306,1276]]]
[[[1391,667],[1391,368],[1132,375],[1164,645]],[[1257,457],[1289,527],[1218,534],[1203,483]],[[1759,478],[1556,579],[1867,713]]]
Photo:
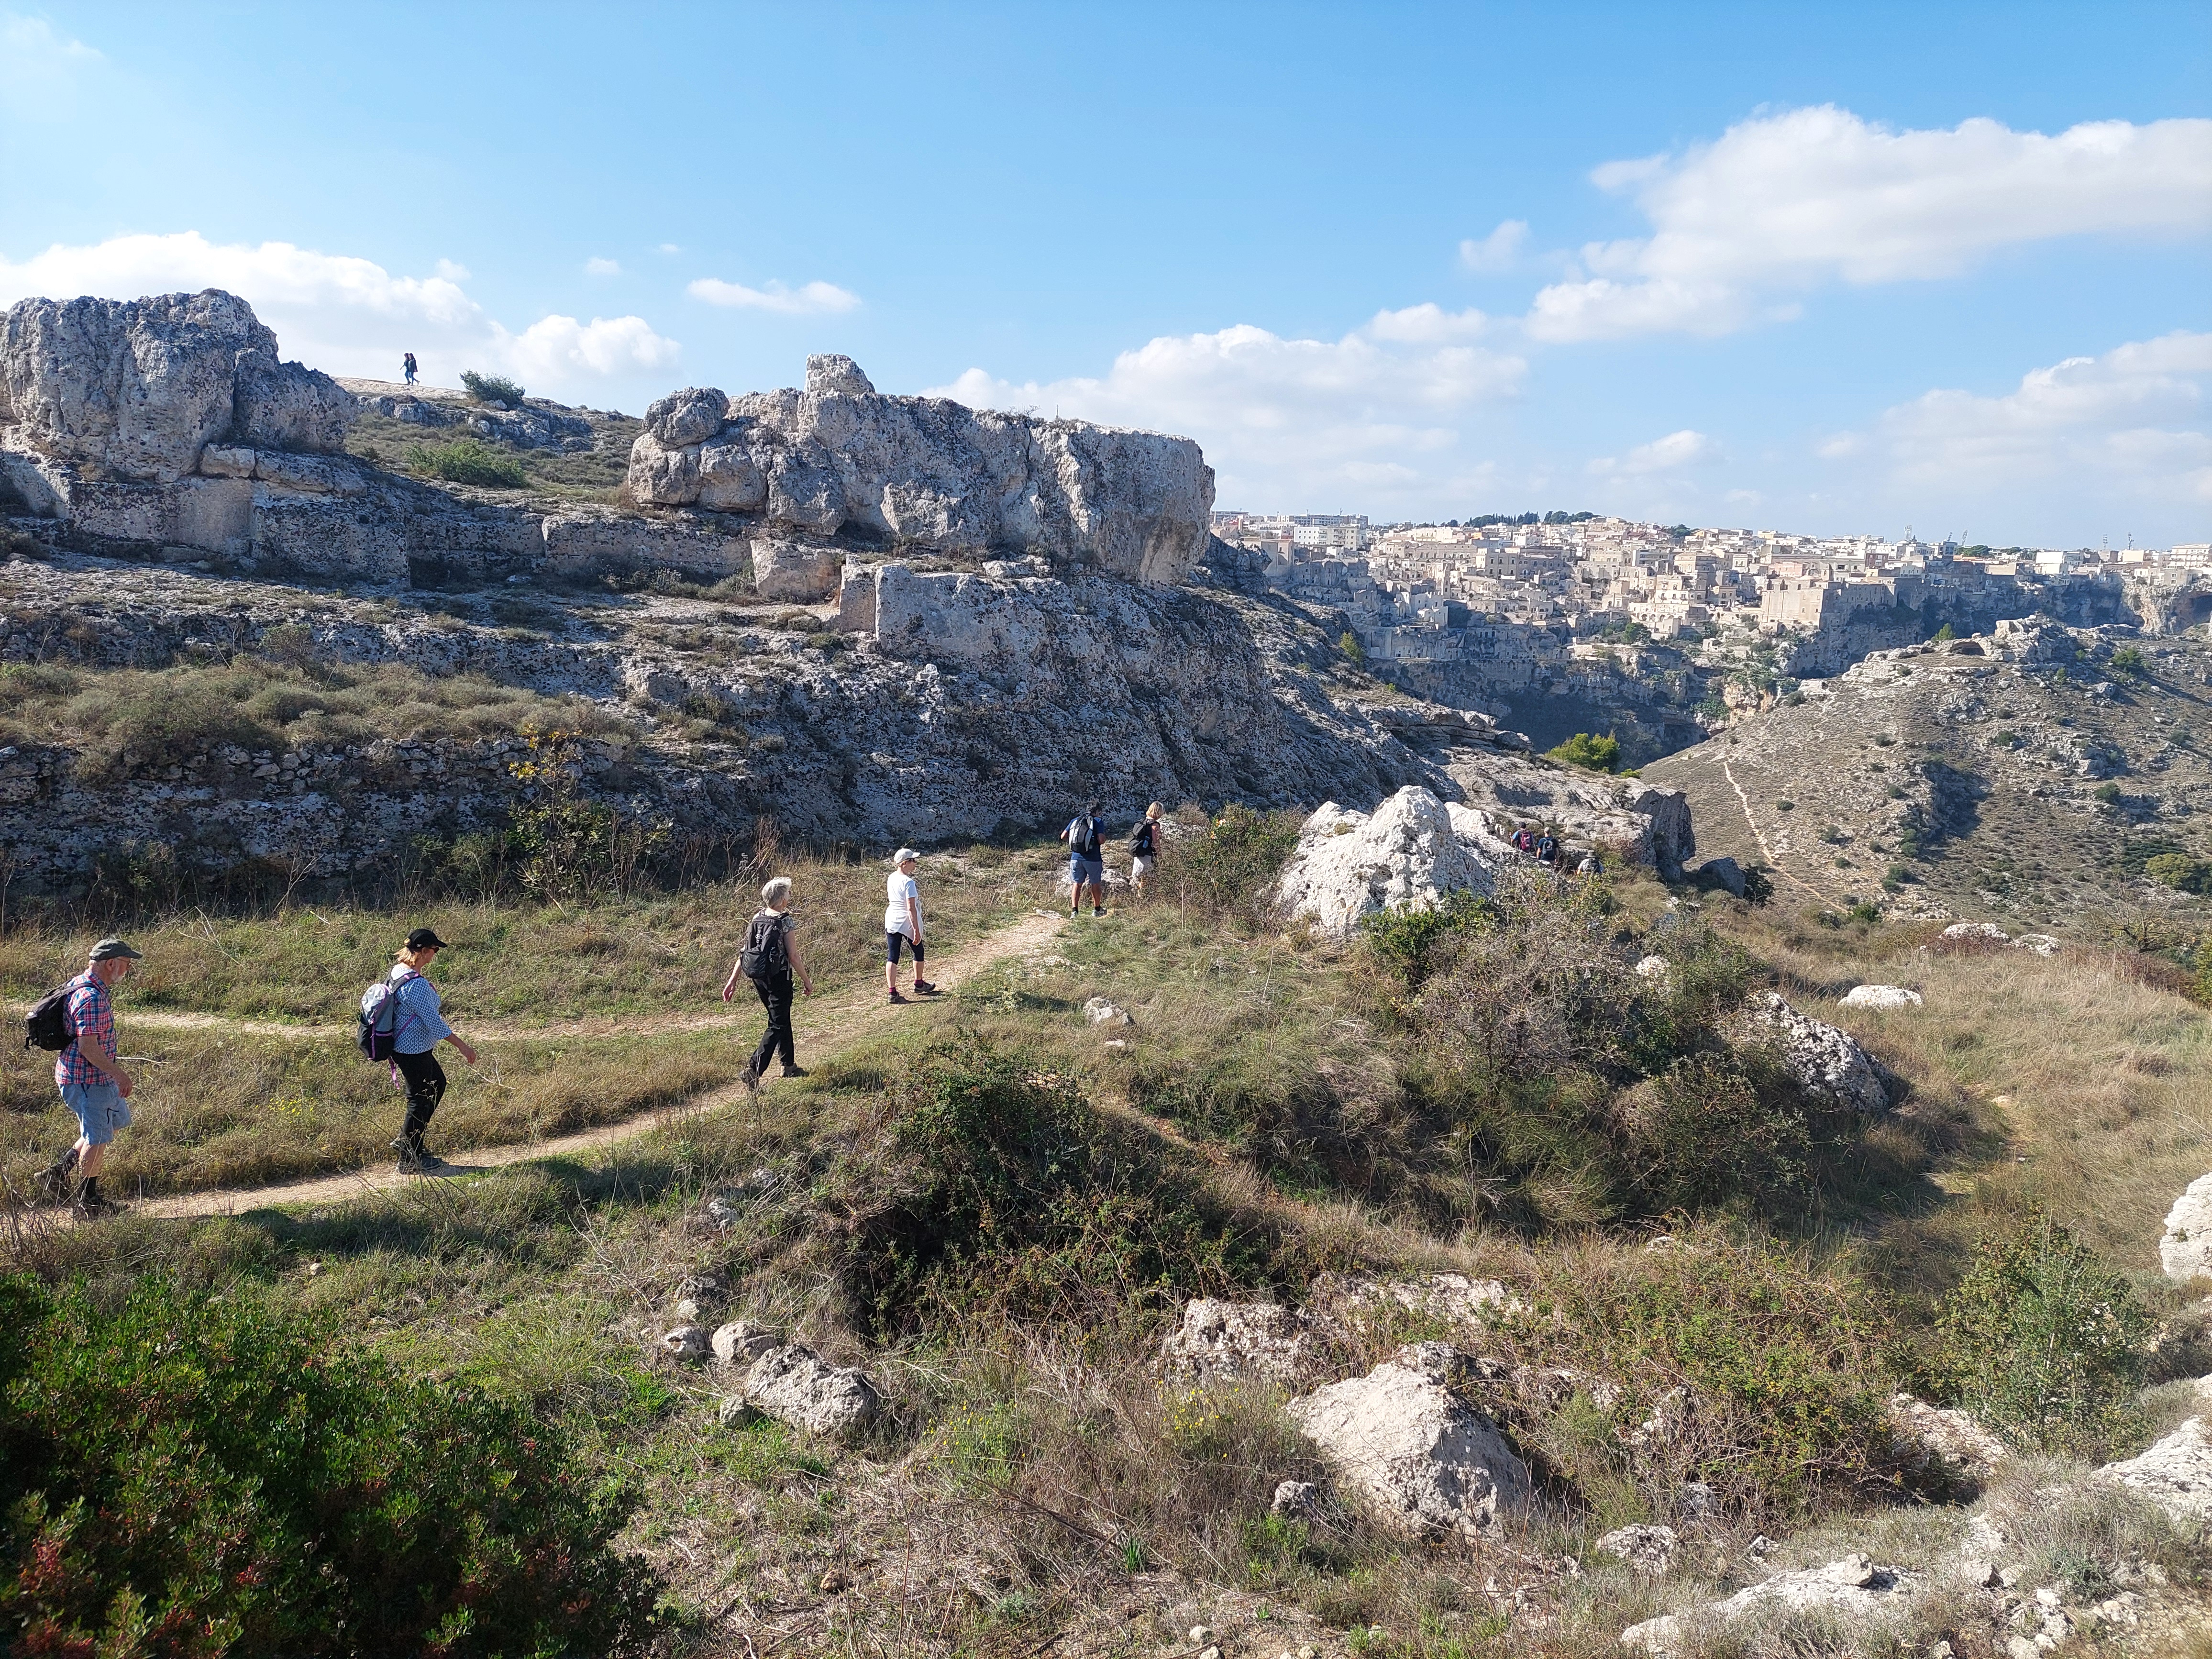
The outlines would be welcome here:
[[[1349,938],[1363,916],[1394,905],[1429,909],[1447,894],[1489,894],[1498,865],[1460,841],[1451,812],[1409,783],[1374,814],[1334,801],[1298,830],[1276,900],[1332,938]]]

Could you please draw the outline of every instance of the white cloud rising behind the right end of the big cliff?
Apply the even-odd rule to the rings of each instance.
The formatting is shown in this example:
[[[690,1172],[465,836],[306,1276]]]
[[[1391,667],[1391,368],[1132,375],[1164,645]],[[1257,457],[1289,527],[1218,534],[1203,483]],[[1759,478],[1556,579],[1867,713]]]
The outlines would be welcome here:
[[[1340,341],[1296,341],[1239,323],[1166,334],[1097,378],[1009,383],[984,369],[933,396],[1179,431],[1206,447],[1221,500],[1336,500],[1345,511],[1449,500],[1480,471],[1458,416],[1520,389],[1524,363],[1469,345],[1480,312],[1378,312]]]

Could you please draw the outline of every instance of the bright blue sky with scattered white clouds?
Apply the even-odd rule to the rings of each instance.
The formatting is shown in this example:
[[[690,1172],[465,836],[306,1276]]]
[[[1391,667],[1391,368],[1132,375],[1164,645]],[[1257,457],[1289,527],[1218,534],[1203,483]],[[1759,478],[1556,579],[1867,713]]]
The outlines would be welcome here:
[[[0,301],[639,411],[849,352],[1223,507],[2212,535],[2212,9],[0,0]]]

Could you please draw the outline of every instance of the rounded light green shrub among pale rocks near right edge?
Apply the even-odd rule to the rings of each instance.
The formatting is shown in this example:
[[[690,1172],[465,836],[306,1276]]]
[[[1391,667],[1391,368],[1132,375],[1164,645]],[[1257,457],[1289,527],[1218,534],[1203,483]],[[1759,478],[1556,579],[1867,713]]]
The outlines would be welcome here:
[[[2013,1440],[2097,1455],[2139,1427],[2150,1316],[2048,1214],[1975,1243],[1938,1318],[1953,1398]]]

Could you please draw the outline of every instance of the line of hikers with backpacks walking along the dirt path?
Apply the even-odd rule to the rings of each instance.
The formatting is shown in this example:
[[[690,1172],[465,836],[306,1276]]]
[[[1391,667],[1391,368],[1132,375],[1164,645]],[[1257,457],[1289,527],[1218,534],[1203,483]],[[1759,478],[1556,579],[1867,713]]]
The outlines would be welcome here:
[[[1060,832],[1060,838],[1068,845],[1073,889],[1068,916],[1082,916],[1086,887],[1091,889],[1091,914],[1104,916],[1106,830],[1099,821],[1099,803],[1086,803]],[[1164,845],[1166,823],[1161,805],[1155,801],[1128,834],[1133,891],[1146,889],[1159,869]],[[1520,845],[1517,838],[1515,845]],[[883,987],[889,1002],[900,1004],[909,1002],[898,989],[902,958],[914,958],[914,995],[929,998],[938,991],[922,978],[929,947],[922,929],[918,867],[920,854],[914,847],[900,847],[891,856],[891,874],[885,878]],[[407,942],[394,951],[392,967],[361,993],[356,1009],[354,1040],[361,1055],[389,1066],[394,1088],[407,1097],[400,1133],[392,1139],[403,1175],[436,1175],[451,1168],[422,1139],[447,1091],[445,1068],[436,1053],[438,1044],[453,1044],[456,1053],[471,1066],[478,1062],[476,1048],[447,1022],[438,987],[429,980],[431,964],[447,949],[451,947],[438,938],[436,929],[414,929]],[[100,1172],[115,1133],[131,1124],[128,1102],[135,1082],[115,1051],[113,989],[128,978],[131,967],[139,960],[144,960],[142,953],[124,940],[104,938],[93,947],[84,973],[40,998],[24,1018],[24,1046],[58,1055],[53,1079],[80,1130],[77,1139],[38,1172],[38,1186],[49,1201],[73,1203],[82,1214],[115,1208],[113,1199],[100,1190]],[[761,887],[761,909],[745,925],[737,962],[730,964],[730,975],[721,984],[723,1002],[737,998],[739,980],[752,982],[754,995],[761,998],[761,1009],[768,1013],[768,1029],[745,1062],[745,1088],[757,1095],[770,1064],[776,1062],[781,1062],[783,1077],[805,1077],[807,1071],[799,1064],[792,1033],[792,998],[796,991],[814,995],[814,975],[807,971],[799,945],[790,876],[776,876]]]

